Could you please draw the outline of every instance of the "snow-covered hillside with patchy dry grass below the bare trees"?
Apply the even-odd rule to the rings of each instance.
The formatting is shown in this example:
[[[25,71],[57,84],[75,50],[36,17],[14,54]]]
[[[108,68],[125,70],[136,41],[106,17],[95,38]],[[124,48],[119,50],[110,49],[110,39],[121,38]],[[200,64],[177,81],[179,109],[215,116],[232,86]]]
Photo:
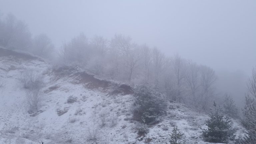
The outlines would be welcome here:
[[[42,75],[43,99],[38,111],[28,113],[21,72]],[[127,85],[99,80],[79,68],[53,68],[42,59],[0,49],[0,144],[165,144],[177,126],[186,144],[206,144],[201,137],[206,114],[168,102],[162,121],[138,134],[143,127],[132,120],[134,97]],[[109,87],[109,86],[112,87]],[[115,92],[114,87],[126,87]],[[244,129],[234,121],[237,137]]]

